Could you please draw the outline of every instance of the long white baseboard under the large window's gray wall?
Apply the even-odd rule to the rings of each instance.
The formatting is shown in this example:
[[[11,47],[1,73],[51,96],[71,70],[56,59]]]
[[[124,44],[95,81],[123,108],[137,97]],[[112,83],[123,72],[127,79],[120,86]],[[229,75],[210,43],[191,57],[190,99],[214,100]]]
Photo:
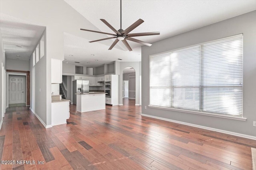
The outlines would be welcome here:
[[[154,119],[170,121],[170,122],[179,123],[179,124],[182,124],[182,125],[198,127],[198,128],[201,128],[201,129],[207,129],[207,130],[210,130],[210,131],[216,131],[216,132],[220,132],[220,133],[226,133],[228,135],[234,135],[234,136],[238,136],[238,137],[244,137],[244,138],[247,138],[247,139],[256,140],[255,136],[244,135],[244,134],[241,134],[241,133],[235,133],[235,132],[230,132],[230,131],[224,131],[224,130],[221,130],[221,129],[215,129],[215,128],[212,128],[212,127],[206,127],[206,126],[196,125],[196,124],[192,124],[192,123],[186,123],[186,122],[182,122],[182,121],[176,121],[176,120],[172,120],[172,119],[166,119],[166,118],[152,116],[152,115],[146,115],[146,114],[141,114],[141,115],[145,116],[145,117],[151,117],[151,118],[154,118]]]

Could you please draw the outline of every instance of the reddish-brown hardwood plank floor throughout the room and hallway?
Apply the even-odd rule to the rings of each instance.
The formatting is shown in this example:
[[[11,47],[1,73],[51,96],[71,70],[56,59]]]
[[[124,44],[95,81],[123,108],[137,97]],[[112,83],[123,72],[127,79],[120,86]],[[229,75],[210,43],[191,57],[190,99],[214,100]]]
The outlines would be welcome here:
[[[254,140],[142,117],[134,104],[84,113],[70,105],[68,123],[48,129],[28,107],[10,107],[3,121],[1,160],[31,161],[1,165],[8,170],[250,170],[256,148]]]

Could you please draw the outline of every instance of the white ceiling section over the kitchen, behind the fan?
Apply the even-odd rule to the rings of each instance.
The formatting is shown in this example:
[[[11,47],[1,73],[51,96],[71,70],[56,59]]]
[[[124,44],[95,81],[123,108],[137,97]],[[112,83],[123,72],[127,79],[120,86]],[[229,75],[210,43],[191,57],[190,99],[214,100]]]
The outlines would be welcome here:
[[[136,47],[133,51],[124,51],[122,49],[113,48],[108,50],[108,46],[101,43],[88,43],[88,39],[77,37],[68,33],[64,33],[64,61],[86,66],[100,66],[113,61],[140,61],[141,47]],[[106,40],[107,42],[112,40]],[[70,56],[73,55],[73,56]],[[98,60],[98,61],[95,61]]]

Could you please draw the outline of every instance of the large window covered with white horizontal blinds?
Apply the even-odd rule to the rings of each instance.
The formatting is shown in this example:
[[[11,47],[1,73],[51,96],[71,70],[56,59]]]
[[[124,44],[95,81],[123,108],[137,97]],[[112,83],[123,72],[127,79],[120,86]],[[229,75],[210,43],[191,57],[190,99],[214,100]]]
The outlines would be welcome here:
[[[150,56],[150,106],[242,117],[242,35]]]

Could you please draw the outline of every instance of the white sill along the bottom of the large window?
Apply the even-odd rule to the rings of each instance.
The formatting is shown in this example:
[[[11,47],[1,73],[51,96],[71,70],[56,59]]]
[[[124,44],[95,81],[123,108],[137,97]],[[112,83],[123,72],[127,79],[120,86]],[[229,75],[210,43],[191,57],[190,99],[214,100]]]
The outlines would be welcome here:
[[[156,108],[156,109],[172,110],[172,111],[181,111],[181,112],[185,112],[185,113],[193,113],[193,114],[212,116],[212,117],[221,117],[221,118],[225,118],[225,119],[234,119],[234,120],[240,120],[240,121],[246,121],[246,119],[247,119],[245,117],[234,117],[234,116],[229,116],[229,115],[220,115],[220,114],[213,114],[213,113],[202,113],[202,112],[199,112],[199,111],[173,109],[173,108],[168,108],[168,107],[159,107],[159,106],[150,106],[150,105],[148,105],[148,107]]]

